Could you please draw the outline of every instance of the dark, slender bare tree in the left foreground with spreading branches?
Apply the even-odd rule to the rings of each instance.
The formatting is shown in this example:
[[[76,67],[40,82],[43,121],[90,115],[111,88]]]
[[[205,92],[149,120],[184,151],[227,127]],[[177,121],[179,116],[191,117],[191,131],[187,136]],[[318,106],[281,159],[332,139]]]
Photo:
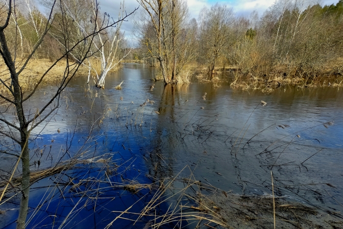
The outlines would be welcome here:
[[[58,4],[57,4],[58,3]],[[83,61],[92,55],[91,47],[95,39],[99,36],[99,33],[103,33],[106,29],[114,27],[118,24],[121,24],[130,14],[124,15],[117,21],[112,21],[108,23],[98,24],[95,23],[99,19],[98,3],[95,3],[94,16],[89,19],[89,25],[92,28],[91,32],[84,34],[84,36],[79,37],[77,40],[70,42],[70,39],[73,34],[71,30],[70,23],[73,21],[69,20],[68,12],[63,8],[63,0],[54,0],[50,4],[49,15],[46,17],[44,28],[37,33],[38,41],[34,44],[33,47],[30,47],[30,52],[23,53],[23,58],[18,60],[19,47],[17,46],[17,38],[19,34],[17,32],[8,34],[7,28],[10,26],[10,21],[18,20],[12,12],[19,10],[15,0],[8,0],[8,7],[5,8],[4,3],[1,3],[0,6],[0,55],[2,61],[5,64],[6,70],[2,72],[0,77],[1,86],[6,89],[6,92],[0,94],[0,98],[3,102],[0,110],[0,122],[6,127],[1,128],[0,134],[4,138],[12,139],[15,144],[20,146],[20,152],[13,152],[7,150],[1,150],[1,153],[9,154],[18,158],[18,162],[22,163],[22,179],[21,179],[21,203],[19,217],[17,220],[17,228],[25,228],[25,219],[28,210],[28,200],[29,200],[29,190],[30,190],[30,151],[28,148],[28,140],[30,137],[30,132],[35,127],[39,126],[46,119],[53,114],[56,109],[60,106],[61,93],[67,87],[68,83],[71,81],[73,76],[77,73]],[[82,7],[82,5],[80,5]],[[4,10],[6,9],[6,10]],[[24,77],[23,71],[27,67],[27,64],[31,61],[32,57],[42,45],[45,39],[48,37],[49,30],[51,25],[56,17],[59,15],[60,20],[60,42],[63,43],[62,54],[53,60],[53,63],[47,70],[42,74],[36,82],[32,85],[32,90],[25,91],[23,80]],[[2,17],[4,16],[4,17]],[[16,21],[17,23],[18,21]],[[38,30],[37,30],[38,31]],[[14,39],[8,39],[7,37],[12,36]],[[13,43],[12,43],[13,42]],[[79,59],[77,61],[71,57],[71,53],[79,49]],[[35,109],[35,112],[31,112],[31,109],[26,109],[30,107],[30,98],[35,95],[38,90],[38,87],[42,84],[42,81],[47,77],[49,71],[59,62],[65,63],[65,71],[61,73],[61,78],[58,85],[55,87],[54,91],[51,92],[51,97],[49,101],[45,104],[40,104],[38,107],[31,107]],[[11,115],[8,115],[8,112],[13,112],[15,118],[13,119]],[[13,171],[14,173],[14,171]],[[8,180],[10,184],[10,180]],[[3,198],[5,190],[2,192],[0,201]]]

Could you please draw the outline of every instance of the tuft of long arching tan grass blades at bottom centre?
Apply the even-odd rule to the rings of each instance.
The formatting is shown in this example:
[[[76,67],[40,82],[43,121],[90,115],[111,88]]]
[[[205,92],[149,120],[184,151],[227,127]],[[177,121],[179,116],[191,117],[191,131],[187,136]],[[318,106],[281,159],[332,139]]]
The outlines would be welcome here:
[[[189,172],[189,177],[179,178],[181,173]],[[181,184],[181,185],[180,185]],[[118,219],[130,219],[137,222],[142,217],[153,218],[153,222],[149,222],[148,227],[151,229],[157,229],[169,224],[176,225],[176,228],[181,228],[183,223],[187,223],[190,227],[196,228],[200,225],[206,227],[212,227],[208,225],[229,227],[221,217],[218,217],[213,208],[207,208],[199,211],[201,205],[201,192],[213,192],[216,188],[211,185],[201,183],[193,176],[191,168],[184,167],[173,178],[161,178],[155,181],[151,187],[157,187],[151,200],[145,205],[140,213],[130,212],[129,210],[134,206],[129,206],[125,211],[113,211],[119,214],[113,219],[106,228],[110,228],[114,225]],[[129,191],[135,192],[136,187],[126,186]],[[187,200],[187,201],[186,201]],[[169,208],[164,209],[165,213],[156,214],[155,209],[159,208],[163,204],[168,204]],[[129,217],[123,217],[123,214],[129,215]],[[136,220],[135,220],[136,219]]]

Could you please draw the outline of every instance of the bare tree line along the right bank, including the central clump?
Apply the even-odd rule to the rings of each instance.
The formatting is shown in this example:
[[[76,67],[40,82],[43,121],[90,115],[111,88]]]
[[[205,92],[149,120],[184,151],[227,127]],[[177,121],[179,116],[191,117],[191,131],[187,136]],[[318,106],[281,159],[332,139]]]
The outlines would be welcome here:
[[[330,6],[309,0],[277,0],[261,17],[236,16],[219,3],[190,19],[185,0],[139,0],[135,57],[158,66],[165,83],[180,82],[189,66],[231,66],[232,85],[242,76],[301,78],[343,74],[343,0]]]

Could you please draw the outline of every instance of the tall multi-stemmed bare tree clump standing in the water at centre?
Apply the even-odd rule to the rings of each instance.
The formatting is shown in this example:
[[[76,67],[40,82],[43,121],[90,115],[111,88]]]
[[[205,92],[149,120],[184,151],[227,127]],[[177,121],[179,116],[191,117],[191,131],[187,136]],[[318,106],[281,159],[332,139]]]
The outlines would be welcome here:
[[[194,58],[194,21],[188,22],[184,0],[139,0],[143,14],[139,25],[145,57],[159,62],[166,84],[182,80],[180,74]],[[178,77],[180,76],[180,77]]]

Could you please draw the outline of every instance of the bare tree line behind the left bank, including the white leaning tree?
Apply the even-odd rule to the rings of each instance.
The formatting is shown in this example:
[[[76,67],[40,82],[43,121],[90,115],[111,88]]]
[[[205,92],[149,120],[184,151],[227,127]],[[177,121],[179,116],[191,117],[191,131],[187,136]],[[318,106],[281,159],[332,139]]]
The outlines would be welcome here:
[[[42,0],[39,3],[37,5],[34,0],[12,1],[11,16],[4,34],[9,50],[15,53],[14,59],[18,63],[21,62],[39,43],[32,58],[54,61],[80,39],[97,32],[94,39],[85,39],[85,42],[92,43],[89,50],[92,55],[82,62],[82,67],[88,70],[87,83],[90,76],[94,75],[96,85],[104,88],[107,73],[130,51],[121,31],[121,19],[126,16],[124,5],[121,4],[116,15],[110,15],[107,12],[100,12],[97,8],[100,8],[99,3],[95,0]],[[1,22],[6,19],[9,7],[8,0],[0,0]],[[51,8],[52,18],[48,18]],[[121,20],[116,26],[98,31],[116,20]],[[49,29],[45,31],[47,24]],[[44,39],[40,41],[43,34]],[[70,60],[80,62],[84,55],[83,45],[76,45],[68,55]]]

